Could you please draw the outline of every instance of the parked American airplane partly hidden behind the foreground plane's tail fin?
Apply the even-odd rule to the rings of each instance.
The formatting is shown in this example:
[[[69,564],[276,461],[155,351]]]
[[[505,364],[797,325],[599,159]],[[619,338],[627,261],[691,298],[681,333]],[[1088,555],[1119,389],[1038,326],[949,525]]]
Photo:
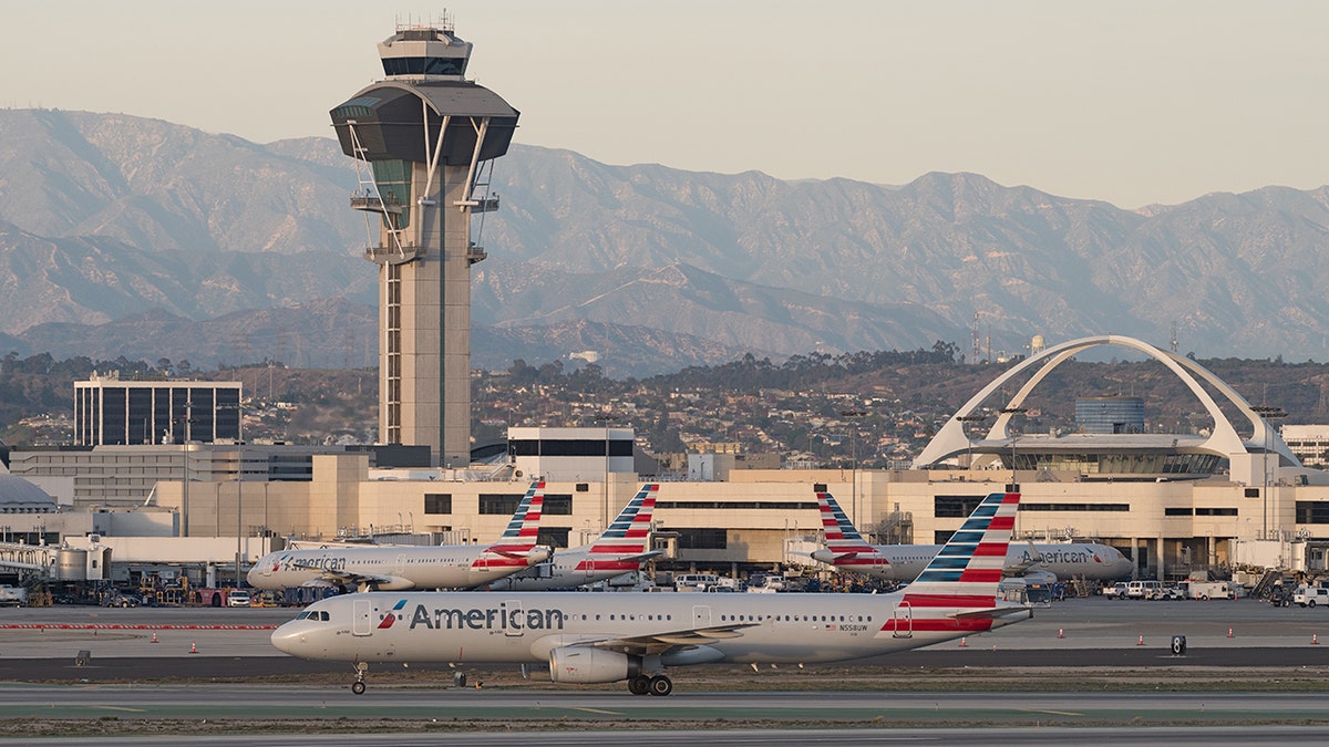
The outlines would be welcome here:
[[[827,546],[813,552],[812,560],[839,570],[908,584],[917,578],[941,550],[941,545],[869,545],[831,493],[819,492],[817,505],[821,508]],[[1073,577],[1120,581],[1130,578],[1132,569],[1131,558],[1110,545],[1013,542],[1006,549],[1002,572],[1006,576],[1055,582],[1058,578]]]

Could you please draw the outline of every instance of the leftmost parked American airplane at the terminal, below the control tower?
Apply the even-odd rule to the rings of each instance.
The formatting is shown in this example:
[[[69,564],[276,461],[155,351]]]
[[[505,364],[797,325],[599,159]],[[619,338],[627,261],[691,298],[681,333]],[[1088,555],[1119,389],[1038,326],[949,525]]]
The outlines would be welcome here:
[[[389,545],[276,550],[249,572],[255,589],[351,586],[369,589],[470,589],[549,560],[537,545],[545,484],[536,481],[517,505],[508,529],[490,545]]]

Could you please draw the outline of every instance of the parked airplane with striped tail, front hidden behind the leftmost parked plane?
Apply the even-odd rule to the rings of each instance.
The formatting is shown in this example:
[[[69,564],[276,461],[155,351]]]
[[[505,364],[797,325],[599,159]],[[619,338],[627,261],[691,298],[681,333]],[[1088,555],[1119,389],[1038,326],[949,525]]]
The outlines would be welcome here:
[[[575,589],[638,570],[643,562],[662,554],[646,546],[651,534],[651,512],[655,509],[658,492],[658,484],[642,485],[598,540],[581,548],[558,550],[552,560],[500,578],[486,589],[490,591]]]

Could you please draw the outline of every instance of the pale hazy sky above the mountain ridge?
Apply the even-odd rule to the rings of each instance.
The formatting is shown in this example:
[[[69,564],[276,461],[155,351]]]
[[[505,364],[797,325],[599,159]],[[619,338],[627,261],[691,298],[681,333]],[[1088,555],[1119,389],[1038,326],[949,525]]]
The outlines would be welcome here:
[[[375,44],[444,8],[518,142],[609,163],[974,171],[1120,207],[1329,182],[1318,0],[5,3],[0,106],[331,137]]]

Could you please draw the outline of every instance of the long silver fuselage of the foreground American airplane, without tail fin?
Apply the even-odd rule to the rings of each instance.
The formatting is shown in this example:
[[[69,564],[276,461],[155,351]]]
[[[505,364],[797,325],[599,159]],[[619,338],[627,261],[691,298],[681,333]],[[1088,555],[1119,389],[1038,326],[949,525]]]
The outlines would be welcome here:
[[[550,663],[565,646],[687,638],[734,626],[661,657],[707,662],[812,663],[873,657],[974,635],[1027,617],[950,617],[902,594],[367,593],[324,599],[282,625],[272,645],[306,659]],[[1011,606],[1010,609],[1015,609]],[[327,613],[327,619],[322,619]],[[706,638],[706,634],[702,634]],[[585,649],[583,649],[585,650]]]

